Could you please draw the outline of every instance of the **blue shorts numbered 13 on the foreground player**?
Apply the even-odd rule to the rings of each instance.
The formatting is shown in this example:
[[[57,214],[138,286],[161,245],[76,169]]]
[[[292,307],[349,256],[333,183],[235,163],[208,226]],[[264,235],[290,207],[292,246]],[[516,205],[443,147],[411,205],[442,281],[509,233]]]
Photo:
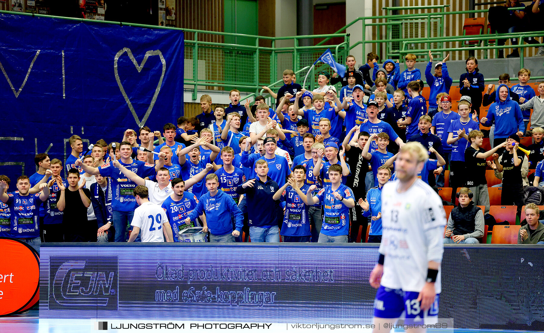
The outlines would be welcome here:
[[[419,292],[403,291],[380,286],[374,300],[374,317],[378,318],[404,318],[405,324],[436,324],[438,316],[438,298],[430,309],[422,312],[417,300]]]

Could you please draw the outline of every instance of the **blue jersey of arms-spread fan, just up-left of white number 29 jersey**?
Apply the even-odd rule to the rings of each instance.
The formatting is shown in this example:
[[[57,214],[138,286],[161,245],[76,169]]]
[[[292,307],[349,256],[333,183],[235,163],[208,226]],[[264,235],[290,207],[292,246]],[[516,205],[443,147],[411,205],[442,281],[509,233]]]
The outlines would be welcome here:
[[[131,164],[125,164],[120,160],[119,162],[122,166],[134,172],[141,178],[150,177],[151,175],[156,174],[155,166],[147,162],[137,160],[132,160]],[[102,177],[112,178],[113,193],[115,193],[112,198],[113,210],[126,212],[134,211],[138,207],[136,198],[133,196],[136,183],[128,179],[120,169],[114,167],[112,162],[98,166],[98,171]]]

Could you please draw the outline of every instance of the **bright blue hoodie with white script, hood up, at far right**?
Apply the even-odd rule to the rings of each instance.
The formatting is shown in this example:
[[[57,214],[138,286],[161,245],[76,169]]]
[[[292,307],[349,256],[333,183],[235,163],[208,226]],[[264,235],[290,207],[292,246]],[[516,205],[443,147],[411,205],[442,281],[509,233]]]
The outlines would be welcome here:
[[[498,91],[501,87],[508,88],[505,84],[501,84],[497,87],[495,102],[491,103],[489,106],[486,116],[487,121],[482,123],[484,126],[491,126],[493,122],[495,123],[495,138],[508,137],[512,134],[516,134],[518,131],[524,132],[525,130],[520,104],[517,104],[512,100],[510,97],[510,90],[508,90],[506,100],[504,102],[500,100]]]

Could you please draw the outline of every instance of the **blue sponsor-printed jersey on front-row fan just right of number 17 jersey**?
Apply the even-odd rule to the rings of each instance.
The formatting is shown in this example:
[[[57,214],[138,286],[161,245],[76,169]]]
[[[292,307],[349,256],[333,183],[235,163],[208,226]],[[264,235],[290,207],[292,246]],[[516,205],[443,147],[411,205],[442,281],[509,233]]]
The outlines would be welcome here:
[[[338,200],[332,192],[340,193],[345,199],[354,199],[353,191],[348,186],[340,184],[336,191],[328,185],[317,192],[316,197],[323,205],[325,216],[321,233],[327,236],[342,236],[349,232],[349,208]]]

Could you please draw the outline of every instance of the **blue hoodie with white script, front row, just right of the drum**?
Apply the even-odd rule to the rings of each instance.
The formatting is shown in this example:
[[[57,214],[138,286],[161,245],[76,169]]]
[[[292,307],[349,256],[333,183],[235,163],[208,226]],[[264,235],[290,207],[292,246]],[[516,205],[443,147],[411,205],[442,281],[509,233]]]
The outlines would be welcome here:
[[[206,213],[206,222],[209,232],[215,236],[222,236],[232,233],[232,219],[234,215],[236,219],[236,230],[242,233],[244,226],[244,215],[238,208],[234,199],[227,193],[218,190],[214,197],[209,195],[209,192],[204,194],[196,204],[196,208],[189,214],[191,221],[194,221],[197,216]]]

